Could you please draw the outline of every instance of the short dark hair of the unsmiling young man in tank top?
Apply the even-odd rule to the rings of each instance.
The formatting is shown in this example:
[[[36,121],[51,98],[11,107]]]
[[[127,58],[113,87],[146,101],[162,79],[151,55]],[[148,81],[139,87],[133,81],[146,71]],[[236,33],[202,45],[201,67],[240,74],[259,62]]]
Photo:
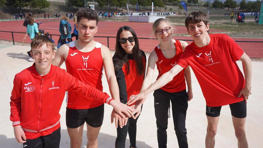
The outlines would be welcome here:
[[[99,22],[99,16],[97,12],[90,8],[83,8],[77,11],[77,23],[80,22],[81,18],[84,17],[88,20],[96,20],[96,25]]]

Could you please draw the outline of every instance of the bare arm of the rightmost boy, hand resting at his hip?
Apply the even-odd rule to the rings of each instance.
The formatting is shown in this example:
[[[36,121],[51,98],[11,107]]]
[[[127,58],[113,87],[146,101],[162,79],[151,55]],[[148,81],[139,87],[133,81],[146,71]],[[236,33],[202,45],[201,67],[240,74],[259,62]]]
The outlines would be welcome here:
[[[243,94],[244,100],[247,103],[247,99],[251,94],[252,64],[250,58],[245,53],[241,56],[240,60],[242,61],[243,71],[245,75],[245,87],[240,91],[238,97]]]

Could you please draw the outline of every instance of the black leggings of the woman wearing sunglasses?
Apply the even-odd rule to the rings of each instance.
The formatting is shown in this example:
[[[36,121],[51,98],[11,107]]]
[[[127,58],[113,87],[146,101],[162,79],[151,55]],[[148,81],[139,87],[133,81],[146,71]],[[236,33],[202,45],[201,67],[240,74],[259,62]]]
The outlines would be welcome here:
[[[135,115],[136,114],[134,114],[134,116]],[[132,117],[129,118],[126,126],[123,126],[122,128],[120,128],[120,125],[118,123],[115,148],[125,148],[125,141],[126,141],[126,137],[127,137],[127,132],[129,133],[131,147],[136,147],[136,131],[137,131],[137,125],[136,124],[137,124],[137,120],[138,120],[139,116],[135,120]]]

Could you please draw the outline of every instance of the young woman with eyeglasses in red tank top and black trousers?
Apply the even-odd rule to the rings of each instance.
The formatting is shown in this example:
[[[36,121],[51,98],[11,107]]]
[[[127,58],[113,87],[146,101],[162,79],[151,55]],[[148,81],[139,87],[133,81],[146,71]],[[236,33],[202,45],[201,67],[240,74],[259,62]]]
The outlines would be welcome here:
[[[172,39],[175,29],[170,21],[166,19],[157,19],[153,23],[153,33],[159,40],[159,45],[155,47],[148,59],[146,77],[143,81],[141,91],[152,84],[155,64],[159,71],[157,79],[173,66],[183,54],[184,48],[188,45],[184,41]],[[186,84],[188,91],[186,92]],[[189,67],[175,76],[172,81],[160,89],[154,91],[154,108],[157,124],[157,139],[159,148],[166,148],[167,143],[167,125],[170,117],[170,102],[172,103],[172,115],[175,127],[175,133],[180,148],[188,147],[186,138],[186,110],[188,102],[193,97],[191,85],[191,73]]]

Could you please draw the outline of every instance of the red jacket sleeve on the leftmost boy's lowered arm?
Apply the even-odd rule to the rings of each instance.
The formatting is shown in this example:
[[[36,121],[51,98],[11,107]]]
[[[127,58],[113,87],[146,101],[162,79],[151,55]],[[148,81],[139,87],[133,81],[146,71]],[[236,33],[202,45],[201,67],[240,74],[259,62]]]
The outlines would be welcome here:
[[[14,78],[13,90],[10,97],[10,120],[13,121],[13,126],[20,125],[20,115],[21,115],[21,82],[17,79],[17,75]]]

